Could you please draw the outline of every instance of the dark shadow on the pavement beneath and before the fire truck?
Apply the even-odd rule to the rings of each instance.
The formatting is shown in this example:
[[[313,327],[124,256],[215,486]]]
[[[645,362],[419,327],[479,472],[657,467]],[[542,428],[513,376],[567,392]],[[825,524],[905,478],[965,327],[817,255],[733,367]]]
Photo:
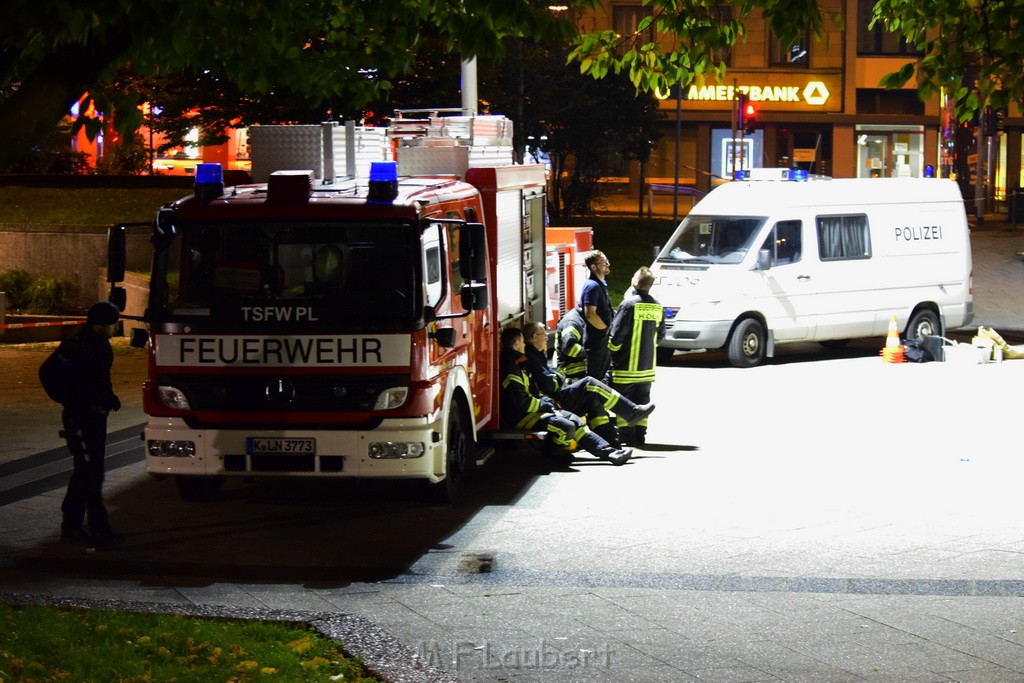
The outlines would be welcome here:
[[[15,548],[0,542],[0,568],[169,587],[387,581],[425,554],[443,552],[443,540],[482,509],[514,505],[553,471],[529,449],[500,451],[460,503],[441,507],[424,502],[420,481],[325,479],[230,480],[219,500],[187,503],[172,479],[151,478],[141,463],[129,468],[128,481],[109,484],[106,497],[112,524],[127,539],[123,546],[94,551],[60,542],[62,490],[55,489],[30,505],[40,540]],[[36,503],[46,499],[48,505]]]

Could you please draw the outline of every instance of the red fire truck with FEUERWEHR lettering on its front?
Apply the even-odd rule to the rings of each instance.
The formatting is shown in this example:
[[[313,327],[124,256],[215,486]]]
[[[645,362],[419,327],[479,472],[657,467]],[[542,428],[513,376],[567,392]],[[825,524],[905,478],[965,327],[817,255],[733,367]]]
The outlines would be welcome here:
[[[545,287],[545,170],[511,164],[504,117],[395,123],[253,128],[255,184],[201,165],[159,210],[145,457],[182,498],[312,476],[451,502],[493,453],[500,331],[565,308]],[[130,227],[110,241],[122,308]]]

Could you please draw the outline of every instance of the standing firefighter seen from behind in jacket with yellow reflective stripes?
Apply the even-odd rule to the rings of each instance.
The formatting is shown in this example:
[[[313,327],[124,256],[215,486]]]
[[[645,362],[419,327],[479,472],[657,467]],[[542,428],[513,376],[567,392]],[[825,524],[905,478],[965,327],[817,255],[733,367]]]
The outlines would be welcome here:
[[[657,365],[657,342],[665,336],[665,310],[650,288],[654,275],[641,267],[633,275],[633,292],[624,300],[611,322],[608,349],[611,351],[611,387],[636,403],[650,402],[650,384]],[[634,427],[620,421],[623,443],[643,445],[647,440],[647,420]]]

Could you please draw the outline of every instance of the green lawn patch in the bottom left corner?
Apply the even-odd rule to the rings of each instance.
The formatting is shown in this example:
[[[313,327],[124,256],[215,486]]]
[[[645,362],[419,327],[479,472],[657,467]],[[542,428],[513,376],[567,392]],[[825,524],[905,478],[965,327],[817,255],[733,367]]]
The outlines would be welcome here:
[[[0,681],[329,680],[379,681],[291,624],[0,605]]]

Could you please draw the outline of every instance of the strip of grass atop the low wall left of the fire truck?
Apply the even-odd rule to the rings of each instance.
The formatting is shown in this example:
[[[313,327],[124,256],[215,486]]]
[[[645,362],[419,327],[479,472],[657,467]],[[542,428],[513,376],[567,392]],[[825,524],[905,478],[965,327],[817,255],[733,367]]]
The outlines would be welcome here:
[[[0,185],[0,223],[111,225],[153,220],[157,209],[181,199],[181,187],[25,187]]]

